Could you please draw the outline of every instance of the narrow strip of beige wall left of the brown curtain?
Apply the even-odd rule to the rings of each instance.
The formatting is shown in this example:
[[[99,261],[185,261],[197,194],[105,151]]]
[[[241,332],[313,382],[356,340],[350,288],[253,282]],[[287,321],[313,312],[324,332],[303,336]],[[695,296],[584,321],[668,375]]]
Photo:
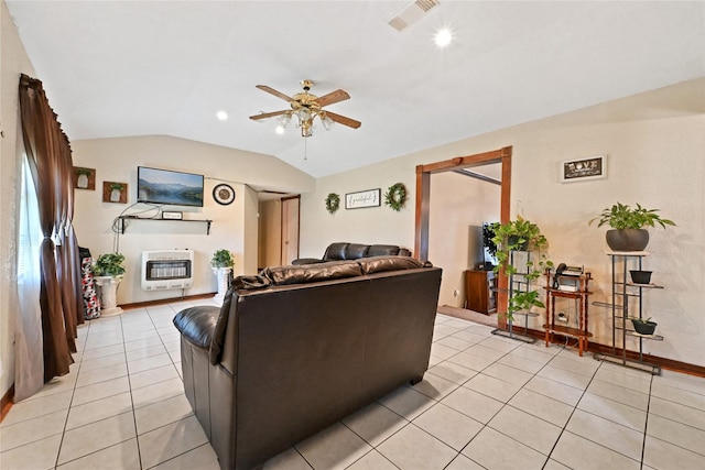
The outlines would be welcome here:
[[[18,214],[18,85],[34,75],[4,1],[0,2],[0,396],[14,383],[17,298],[15,230]]]

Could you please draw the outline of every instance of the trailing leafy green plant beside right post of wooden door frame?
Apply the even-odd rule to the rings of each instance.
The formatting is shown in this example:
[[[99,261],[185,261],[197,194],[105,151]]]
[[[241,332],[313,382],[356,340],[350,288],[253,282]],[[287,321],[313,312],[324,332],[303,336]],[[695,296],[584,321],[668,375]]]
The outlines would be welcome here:
[[[496,273],[503,271],[507,276],[521,275],[525,281],[525,291],[512,291],[507,304],[507,318],[513,321],[516,311],[529,310],[532,307],[545,308],[539,298],[539,292],[531,287],[532,281],[553,266],[553,262],[546,258],[545,253],[541,253],[549,242],[541,233],[539,226],[517,216],[517,220],[510,220],[507,223],[492,223],[490,230],[495,233],[492,242],[497,247],[495,253],[497,265],[494,271]],[[519,272],[512,263],[513,251],[539,252],[539,260],[534,262],[528,258],[524,269]]]

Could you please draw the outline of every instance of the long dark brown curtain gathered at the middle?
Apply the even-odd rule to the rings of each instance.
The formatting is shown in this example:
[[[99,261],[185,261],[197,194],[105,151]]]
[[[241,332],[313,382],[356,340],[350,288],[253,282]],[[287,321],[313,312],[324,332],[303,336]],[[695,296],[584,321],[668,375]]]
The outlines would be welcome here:
[[[83,323],[80,273],[73,216],[73,163],[68,139],[37,79],[20,78],[20,118],[24,150],[39,200],[44,239],[40,248],[40,307],[44,381],[68,373]],[[80,308],[78,308],[80,306]]]

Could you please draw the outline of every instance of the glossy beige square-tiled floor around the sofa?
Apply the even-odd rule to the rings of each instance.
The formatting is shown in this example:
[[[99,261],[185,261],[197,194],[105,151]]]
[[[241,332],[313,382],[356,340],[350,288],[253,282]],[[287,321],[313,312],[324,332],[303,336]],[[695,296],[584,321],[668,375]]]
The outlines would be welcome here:
[[[14,405],[0,468],[217,469],[184,397],[176,311],[80,328],[72,373]],[[431,369],[268,469],[703,469],[705,380],[651,376],[438,315]]]

